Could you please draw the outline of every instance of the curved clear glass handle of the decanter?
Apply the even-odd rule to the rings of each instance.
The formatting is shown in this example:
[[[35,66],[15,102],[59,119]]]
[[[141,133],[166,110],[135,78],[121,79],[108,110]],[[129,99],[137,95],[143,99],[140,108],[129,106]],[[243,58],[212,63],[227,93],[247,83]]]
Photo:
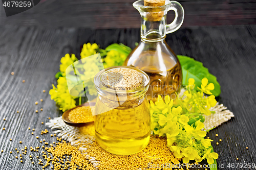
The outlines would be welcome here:
[[[180,3],[177,1],[171,1],[170,3],[171,5],[168,8],[168,11],[173,10],[175,12],[175,18],[172,23],[166,25],[166,34],[177,31],[181,27],[184,20],[184,9]]]

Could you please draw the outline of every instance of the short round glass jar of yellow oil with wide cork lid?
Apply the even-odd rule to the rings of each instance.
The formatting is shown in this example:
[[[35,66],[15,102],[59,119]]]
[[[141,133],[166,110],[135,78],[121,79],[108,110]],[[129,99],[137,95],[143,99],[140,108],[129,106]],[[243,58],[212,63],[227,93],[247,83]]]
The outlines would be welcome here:
[[[101,70],[94,78],[96,141],[104,150],[131,155],[150,140],[150,110],[145,93],[149,77],[130,66]]]

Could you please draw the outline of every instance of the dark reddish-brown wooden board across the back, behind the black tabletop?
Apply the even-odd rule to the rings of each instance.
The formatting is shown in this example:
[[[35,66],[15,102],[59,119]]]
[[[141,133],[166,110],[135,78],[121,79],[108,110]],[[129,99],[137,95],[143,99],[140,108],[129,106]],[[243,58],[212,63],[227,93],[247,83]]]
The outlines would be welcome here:
[[[39,27],[139,28],[135,0],[46,0],[20,14],[6,17],[0,7],[0,23]],[[256,24],[255,0],[182,0],[182,27]],[[174,19],[168,12],[167,23]]]

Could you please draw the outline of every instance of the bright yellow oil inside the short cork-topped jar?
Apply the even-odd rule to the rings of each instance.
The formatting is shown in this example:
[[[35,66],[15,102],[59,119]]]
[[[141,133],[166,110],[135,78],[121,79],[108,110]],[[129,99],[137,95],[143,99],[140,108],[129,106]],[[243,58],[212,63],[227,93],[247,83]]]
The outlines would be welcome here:
[[[138,153],[150,140],[148,101],[145,98],[140,105],[130,106],[131,108],[112,109],[99,98],[96,102],[95,113],[101,113],[95,116],[96,141],[101,148],[112,154]]]

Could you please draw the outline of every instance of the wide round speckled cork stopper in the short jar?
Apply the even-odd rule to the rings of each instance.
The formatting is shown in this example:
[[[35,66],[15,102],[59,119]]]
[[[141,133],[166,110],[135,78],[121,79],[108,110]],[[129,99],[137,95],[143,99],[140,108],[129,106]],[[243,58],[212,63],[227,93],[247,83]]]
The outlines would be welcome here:
[[[114,90],[132,90],[142,84],[142,75],[131,68],[117,68],[106,72],[101,83]]]

